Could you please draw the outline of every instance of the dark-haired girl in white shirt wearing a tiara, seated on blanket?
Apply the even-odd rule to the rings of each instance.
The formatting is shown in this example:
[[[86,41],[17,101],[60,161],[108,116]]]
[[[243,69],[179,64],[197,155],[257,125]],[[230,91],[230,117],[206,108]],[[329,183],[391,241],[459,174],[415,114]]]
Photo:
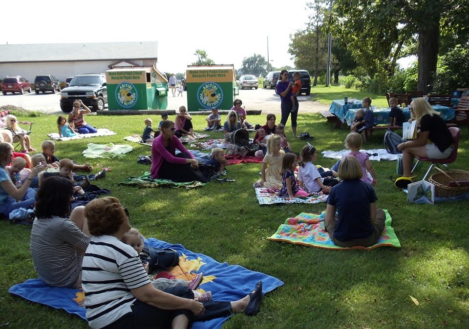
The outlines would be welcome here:
[[[316,161],[318,153],[316,148],[307,144],[301,149],[301,160],[302,163],[298,169],[298,181],[299,185],[303,185],[313,193],[323,192],[329,194],[332,186],[339,184],[337,179],[338,174],[335,171],[323,172],[322,174],[318,171],[313,161]],[[328,178],[322,178],[327,176],[333,176]]]

